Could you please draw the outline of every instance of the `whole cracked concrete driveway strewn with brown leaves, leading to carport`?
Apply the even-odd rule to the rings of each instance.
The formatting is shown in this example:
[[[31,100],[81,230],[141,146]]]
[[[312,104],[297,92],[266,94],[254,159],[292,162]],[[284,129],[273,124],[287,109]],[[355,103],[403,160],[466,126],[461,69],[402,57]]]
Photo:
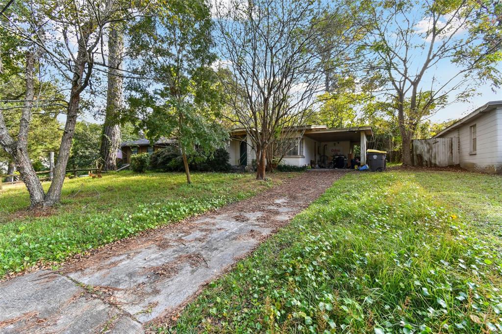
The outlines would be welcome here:
[[[0,283],[0,333],[142,332],[141,323],[179,312],[343,174],[304,173],[254,198],[105,246],[60,273]]]

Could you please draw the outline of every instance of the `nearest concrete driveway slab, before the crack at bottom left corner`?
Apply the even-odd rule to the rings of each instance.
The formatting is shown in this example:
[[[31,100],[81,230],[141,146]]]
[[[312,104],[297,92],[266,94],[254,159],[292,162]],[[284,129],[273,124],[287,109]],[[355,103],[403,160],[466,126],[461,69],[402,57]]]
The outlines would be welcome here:
[[[115,324],[141,332],[139,322],[63,275],[43,270],[0,283],[0,333],[99,332]]]

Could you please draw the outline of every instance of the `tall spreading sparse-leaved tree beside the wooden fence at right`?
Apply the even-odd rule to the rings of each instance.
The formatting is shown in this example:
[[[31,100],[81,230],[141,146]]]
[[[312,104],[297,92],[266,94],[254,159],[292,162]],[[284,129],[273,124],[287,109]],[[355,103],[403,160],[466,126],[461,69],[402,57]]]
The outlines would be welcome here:
[[[492,1],[470,0],[387,1],[372,11],[368,76],[396,110],[404,164],[424,117],[469,99],[481,82],[502,83],[501,13]]]

